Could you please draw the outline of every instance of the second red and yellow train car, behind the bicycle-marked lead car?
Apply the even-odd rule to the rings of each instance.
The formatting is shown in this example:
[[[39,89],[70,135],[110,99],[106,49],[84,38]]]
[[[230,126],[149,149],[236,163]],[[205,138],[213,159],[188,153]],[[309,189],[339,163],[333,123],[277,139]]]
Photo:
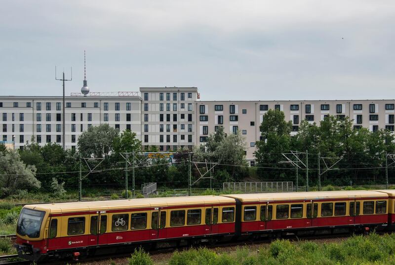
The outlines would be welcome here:
[[[395,192],[395,191],[394,191]],[[324,234],[384,229],[389,196],[378,191],[222,195],[240,204],[241,237]],[[390,207],[393,211],[394,208]],[[237,229],[237,228],[236,228]]]

